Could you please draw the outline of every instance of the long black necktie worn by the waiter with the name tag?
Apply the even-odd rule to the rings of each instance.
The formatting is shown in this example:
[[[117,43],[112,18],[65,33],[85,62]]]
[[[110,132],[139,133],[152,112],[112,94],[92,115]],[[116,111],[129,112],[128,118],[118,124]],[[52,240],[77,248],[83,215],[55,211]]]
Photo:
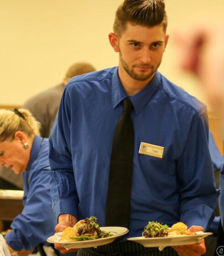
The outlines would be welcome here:
[[[134,146],[132,109],[131,100],[124,99],[113,135],[105,226],[128,228]]]

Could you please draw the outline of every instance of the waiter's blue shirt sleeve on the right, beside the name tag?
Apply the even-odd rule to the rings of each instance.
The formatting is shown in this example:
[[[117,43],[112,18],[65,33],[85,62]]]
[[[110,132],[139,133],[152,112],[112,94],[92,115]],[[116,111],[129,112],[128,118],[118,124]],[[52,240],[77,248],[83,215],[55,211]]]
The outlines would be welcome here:
[[[177,165],[181,221],[188,227],[212,223],[219,192],[214,185],[211,157],[208,149],[208,117],[206,113],[193,117],[181,160]]]

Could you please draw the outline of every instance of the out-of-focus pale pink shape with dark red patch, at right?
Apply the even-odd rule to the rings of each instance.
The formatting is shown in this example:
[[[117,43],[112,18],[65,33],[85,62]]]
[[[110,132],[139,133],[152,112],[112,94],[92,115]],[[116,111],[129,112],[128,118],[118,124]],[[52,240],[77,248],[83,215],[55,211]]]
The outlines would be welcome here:
[[[224,19],[198,20],[176,32],[181,68],[197,76],[214,113],[224,118]]]

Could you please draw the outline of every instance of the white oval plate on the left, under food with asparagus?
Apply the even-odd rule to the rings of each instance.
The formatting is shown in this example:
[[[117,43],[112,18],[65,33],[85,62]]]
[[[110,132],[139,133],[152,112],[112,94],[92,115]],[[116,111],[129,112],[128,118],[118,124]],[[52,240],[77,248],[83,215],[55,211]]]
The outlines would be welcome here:
[[[87,241],[74,241],[74,242],[63,242],[61,241],[62,232],[56,233],[48,237],[48,243],[60,244],[63,245],[65,249],[77,249],[77,248],[88,248],[88,247],[97,247],[99,245],[107,245],[112,243],[117,237],[125,235],[128,233],[127,228],[123,227],[101,227],[102,231],[111,232],[113,236],[99,238],[96,240],[87,240]]]

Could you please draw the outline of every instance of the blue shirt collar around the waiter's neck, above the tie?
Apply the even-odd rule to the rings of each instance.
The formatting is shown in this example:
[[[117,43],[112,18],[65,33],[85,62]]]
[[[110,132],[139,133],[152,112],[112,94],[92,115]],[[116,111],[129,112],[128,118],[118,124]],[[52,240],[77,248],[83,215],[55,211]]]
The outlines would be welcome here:
[[[145,104],[149,101],[151,96],[155,93],[156,89],[160,85],[160,73],[155,72],[153,79],[149,82],[147,86],[135,95],[131,96],[130,99],[133,104],[133,108],[136,114],[138,114]],[[118,67],[114,70],[112,75],[112,105],[113,108],[116,108],[117,105],[127,98],[128,95],[123,88],[123,85],[118,76]]]

